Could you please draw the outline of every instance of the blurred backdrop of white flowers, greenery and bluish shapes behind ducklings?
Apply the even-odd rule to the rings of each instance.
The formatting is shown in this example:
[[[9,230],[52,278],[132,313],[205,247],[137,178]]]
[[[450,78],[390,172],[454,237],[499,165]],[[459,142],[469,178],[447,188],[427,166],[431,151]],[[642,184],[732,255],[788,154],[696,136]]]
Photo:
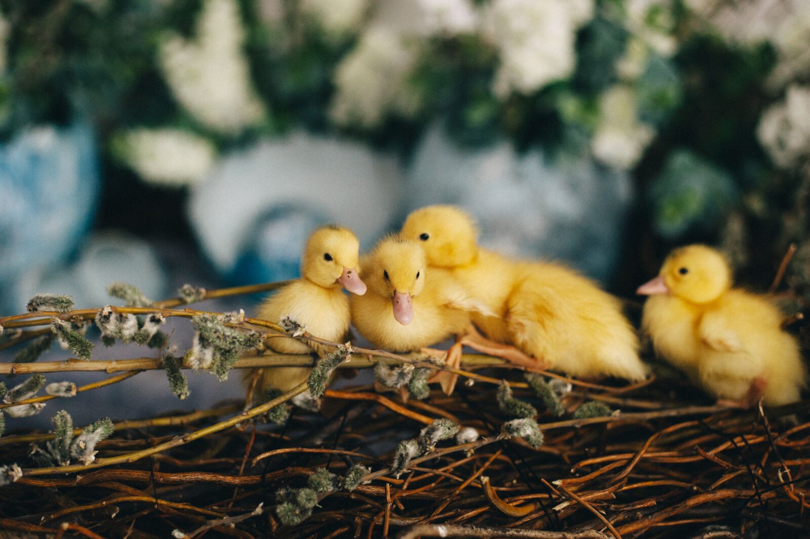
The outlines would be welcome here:
[[[787,278],[810,281],[807,0],[0,0],[0,14],[3,314],[38,292],[99,307],[113,281],[163,299],[292,278],[319,223],[369,248],[437,202],[475,214],[488,247],[620,295],[695,241],[760,289],[795,242]],[[204,378],[188,405],[239,393]]]

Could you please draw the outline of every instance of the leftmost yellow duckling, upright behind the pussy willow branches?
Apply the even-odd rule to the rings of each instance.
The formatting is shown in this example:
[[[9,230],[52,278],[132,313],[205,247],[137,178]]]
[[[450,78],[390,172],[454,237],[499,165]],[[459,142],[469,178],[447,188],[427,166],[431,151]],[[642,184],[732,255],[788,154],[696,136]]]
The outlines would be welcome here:
[[[343,288],[357,295],[366,291],[360,279],[359,256],[360,244],[352,231],[336,226],[318,228],[306,242],[301,278],[267,298],[258,309],[258,317],[278,322],[289,316],[315,337],[343,342],[351,324],[349,300]],[[267,339],[266,346],[279,354],[329,351],[287,337]],[[260,390],[272,386],[288,391],[309,376],[307,367],[274,367],[261,371],[257,385]]]

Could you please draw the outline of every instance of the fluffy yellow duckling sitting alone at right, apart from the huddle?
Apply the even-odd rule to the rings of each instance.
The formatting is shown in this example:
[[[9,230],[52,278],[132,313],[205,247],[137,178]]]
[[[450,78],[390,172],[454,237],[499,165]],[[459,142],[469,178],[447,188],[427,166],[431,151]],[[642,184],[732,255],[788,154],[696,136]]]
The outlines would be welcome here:
[[[713,248],[689,245],[664,261],[638,293],[650,295],[642,327],[655,350],[727,404],[799,400],[807,371],[782,314],[761,295],[731,287],[731,269]]]

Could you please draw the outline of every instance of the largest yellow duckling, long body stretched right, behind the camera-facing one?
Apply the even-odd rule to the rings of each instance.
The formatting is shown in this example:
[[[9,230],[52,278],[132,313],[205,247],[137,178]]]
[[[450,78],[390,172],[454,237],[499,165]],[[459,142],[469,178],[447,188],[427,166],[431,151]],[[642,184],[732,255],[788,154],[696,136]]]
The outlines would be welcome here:
[[[489,339],[514,344],[531,356],[513,357],[513,363],[572,376],[646,376],[620,302],[572,269],[479,248],[473,219],[454,206],[414,211],[401,234],[420,240],[431,267],[451,269],[467,294],[494,312],[472,316]],[[493,347],[475,333],[465,344],[484,353]]]

